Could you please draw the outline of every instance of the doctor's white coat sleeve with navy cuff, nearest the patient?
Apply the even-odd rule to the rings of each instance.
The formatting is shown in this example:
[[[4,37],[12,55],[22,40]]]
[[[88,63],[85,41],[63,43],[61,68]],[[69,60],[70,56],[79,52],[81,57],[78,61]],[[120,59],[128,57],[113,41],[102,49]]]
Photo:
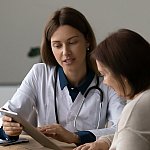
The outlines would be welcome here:
[[[77,145],[81,145],[81,144],[89,143],[89,142],[94,142],[96,139],[98,139],[101,136],[110,135],[110,134],[115,133],[118,119],[119,119],[120,114],[121,114],[121,112],[122,112],[122,110],[126,104],[126,101],[122,100],[110,88],[108,88],[108,90],[107,90],[107,96],[106,97],[108,97],[108,98],[105,99],[105,102],[103,103],[103,105],[107,105],[107,107],[104,106],[102,111],[106,111],[108,121],[111,123],[111,125],[108,126],[107,128],[76,132],[76,134],[79,136],[79,143],[76,143]],[[102,116],[102,117],[106,120],[106,118],[104,116]]]

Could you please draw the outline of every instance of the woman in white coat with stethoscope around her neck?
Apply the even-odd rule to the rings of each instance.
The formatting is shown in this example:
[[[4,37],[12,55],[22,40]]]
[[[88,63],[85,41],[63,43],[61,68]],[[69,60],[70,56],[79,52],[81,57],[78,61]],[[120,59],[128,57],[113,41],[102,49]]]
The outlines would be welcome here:
[[[96,75],[89,56],[95,47],[92,28],[79,11],[69,7],[56,11],[43,34],[44,63],[32,67],[3,108],[29,121],[36,110],[38,129],[67,143],[83,144],[114,133],[125,102]],[[111,126],[105,128],[108,121]],[[4,116],[3,130],[14,139],[22,127]]]

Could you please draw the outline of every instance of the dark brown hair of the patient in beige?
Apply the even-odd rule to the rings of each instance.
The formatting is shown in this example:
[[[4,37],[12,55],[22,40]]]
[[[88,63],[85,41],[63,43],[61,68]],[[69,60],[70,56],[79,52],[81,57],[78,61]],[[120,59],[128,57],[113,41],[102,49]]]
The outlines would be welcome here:
[[[125,93],[122,77],[131,86],[130,98],[150,87],[150,44],[138,33],[120,29],[102,41],[92,56],[108,67]]]

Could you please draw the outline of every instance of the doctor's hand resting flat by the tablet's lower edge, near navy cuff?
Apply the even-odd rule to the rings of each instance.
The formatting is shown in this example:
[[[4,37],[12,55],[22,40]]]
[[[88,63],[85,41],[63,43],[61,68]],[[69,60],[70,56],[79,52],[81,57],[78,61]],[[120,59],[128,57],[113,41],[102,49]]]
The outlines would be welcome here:
[[[79,143],[79,137],[62,127],[60,124],[46,125],[38,127],[38,130],[46,136],[66,143]]]

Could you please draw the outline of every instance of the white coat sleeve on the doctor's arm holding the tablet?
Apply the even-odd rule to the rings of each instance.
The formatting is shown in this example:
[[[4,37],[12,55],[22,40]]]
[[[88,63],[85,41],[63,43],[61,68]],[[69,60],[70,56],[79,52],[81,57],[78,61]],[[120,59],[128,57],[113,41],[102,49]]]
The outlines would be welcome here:
[[[36,107],[37,98],[37,65],[34,65],[22,81],[11,100],[8,100],[3,108],[18,112],[29,120]]]

